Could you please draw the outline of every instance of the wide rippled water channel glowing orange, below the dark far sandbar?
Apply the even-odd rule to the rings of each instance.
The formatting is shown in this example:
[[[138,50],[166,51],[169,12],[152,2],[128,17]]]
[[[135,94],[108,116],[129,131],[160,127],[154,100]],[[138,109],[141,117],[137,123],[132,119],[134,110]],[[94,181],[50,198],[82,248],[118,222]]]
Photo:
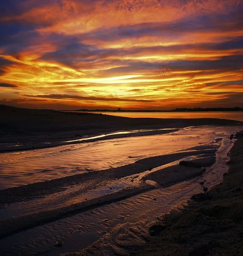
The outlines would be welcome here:
[[[134,163],[227,137],[242,127],[191,127],[170,134],[126,137],[0,154],[0,189]]]

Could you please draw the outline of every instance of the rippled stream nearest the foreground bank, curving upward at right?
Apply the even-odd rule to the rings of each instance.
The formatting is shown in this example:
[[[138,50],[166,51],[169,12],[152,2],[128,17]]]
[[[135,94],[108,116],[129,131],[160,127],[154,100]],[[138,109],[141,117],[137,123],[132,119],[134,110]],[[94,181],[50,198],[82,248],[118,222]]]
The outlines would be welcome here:
[[[154,216],[168,212],[169,209],[188,199],[194,193],[202,192],[200,181],[204,181],[207,187],[219,182],[223,173],[227,171],[227,152],[232,143],[226,136],[227,129],[223,132],[220,128],[214,128],[214,133],[212,130],[203,129],[193,128],[191,133],[198,134],[198,131],[201,131],[202,136],[203,132],[208,132],[208,139],[215,138],[213,144],[220,143],[216,163],[208,168],[203,175],[14,234],[0,241],[3,253],[25,256],[33,254],[57,256],[60,253],[79,251],[99,239],[100,236],[110,232],[117,224],[128,221],[135,223],[143,218],[152,220]],[[184,136],[188,131],[189,129],[184,131]],[[179,136],[179,134],[177,135]],[[221,142],[219,138],[222,138]],[[179,143],[181,142],[180,138]],[[128,237],[120,236],[120,238],[123,239],[123,244],[129,244]],[[105,244],[104,249],[108,250],[108,255],[114,255],[111,246],[117,246],[116,242],[120,238],[118,234],[118,237],[114,237],[111,243]],[[63,241],[63,246],[55,247],[54,245],[59,239]]]

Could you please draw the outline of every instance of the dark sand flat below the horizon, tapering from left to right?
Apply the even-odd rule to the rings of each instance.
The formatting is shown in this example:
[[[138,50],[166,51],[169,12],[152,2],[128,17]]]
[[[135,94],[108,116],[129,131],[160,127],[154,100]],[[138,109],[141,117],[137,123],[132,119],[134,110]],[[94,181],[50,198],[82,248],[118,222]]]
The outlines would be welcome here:
[[[64,141],[78,140],[114,131],[237,124],[242,124],[242,122],[213,118],[128,118],[97,113],[64,113],[0,105],[0,151],[63,145]],[[160,134],[168,132],[160,131]],[[150,134],[139,133],[129,136],[138,135]],[[9,143],[14,145],[9,146]]]

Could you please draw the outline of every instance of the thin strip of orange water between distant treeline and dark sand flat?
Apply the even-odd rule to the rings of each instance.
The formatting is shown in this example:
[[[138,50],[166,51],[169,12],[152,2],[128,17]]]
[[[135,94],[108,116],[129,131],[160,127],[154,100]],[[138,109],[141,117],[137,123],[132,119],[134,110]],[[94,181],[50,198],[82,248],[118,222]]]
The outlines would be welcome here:
[[[97,112],[95,112],[97,113]],[[112,116],[123,116],[132,118],[221,118],[243,121],[243,112],[99,112]]]

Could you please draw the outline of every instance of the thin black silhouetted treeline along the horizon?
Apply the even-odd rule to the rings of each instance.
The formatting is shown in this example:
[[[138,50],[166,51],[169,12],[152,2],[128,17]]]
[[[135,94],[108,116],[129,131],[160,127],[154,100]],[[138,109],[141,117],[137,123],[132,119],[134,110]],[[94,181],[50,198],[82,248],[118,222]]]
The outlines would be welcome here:
[[[176,108],[172,110],[123,110],[118,108],[117,110],[110,109],[94,109],[88,110],[86,108],[75,111],[82,112],[232,112],[232,111],[243,111],[243,108]]]

